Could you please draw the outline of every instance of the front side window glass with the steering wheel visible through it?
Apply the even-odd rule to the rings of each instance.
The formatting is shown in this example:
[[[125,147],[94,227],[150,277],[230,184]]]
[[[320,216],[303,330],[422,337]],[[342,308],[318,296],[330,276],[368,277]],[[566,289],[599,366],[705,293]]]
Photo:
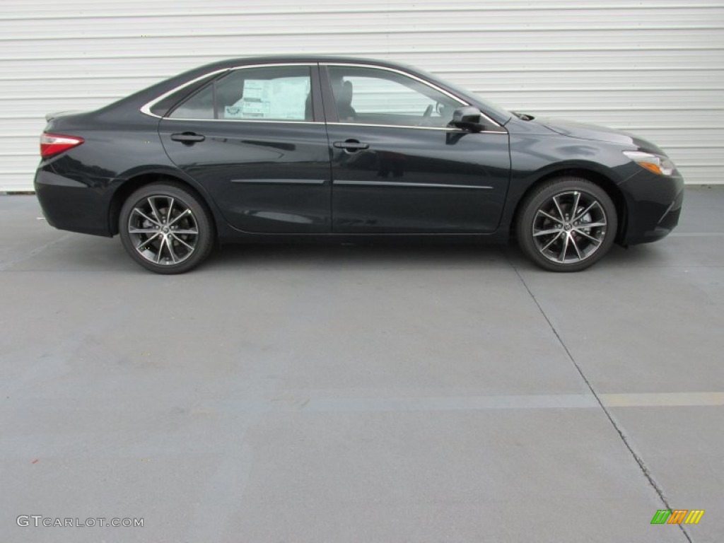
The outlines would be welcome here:
[[[445,127],[461,102],[406,75],[366,67],[330,66],[340,122]]]

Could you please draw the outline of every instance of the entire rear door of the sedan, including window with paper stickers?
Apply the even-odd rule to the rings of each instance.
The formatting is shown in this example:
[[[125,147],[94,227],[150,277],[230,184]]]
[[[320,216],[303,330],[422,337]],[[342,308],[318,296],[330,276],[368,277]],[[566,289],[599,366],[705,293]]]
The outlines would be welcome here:
[[[240,67],[159,123],[169,158],[245,232],[330,230],[329,143],[316,64]]]

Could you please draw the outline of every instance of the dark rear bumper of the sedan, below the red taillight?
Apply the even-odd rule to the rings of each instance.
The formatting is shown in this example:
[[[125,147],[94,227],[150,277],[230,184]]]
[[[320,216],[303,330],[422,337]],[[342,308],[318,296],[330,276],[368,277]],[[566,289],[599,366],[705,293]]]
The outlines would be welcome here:
[[[111,237],[104,188],[38,169],[35,194],[48,223],[59,230]]]

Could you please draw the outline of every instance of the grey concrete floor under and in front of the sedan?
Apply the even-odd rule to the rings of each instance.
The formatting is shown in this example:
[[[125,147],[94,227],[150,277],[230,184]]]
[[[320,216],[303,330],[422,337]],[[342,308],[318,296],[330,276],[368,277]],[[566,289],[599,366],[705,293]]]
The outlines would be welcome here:
[[[722,209],[689,188],[580,274],[256,246],[161,277],[0,197],[0,541],[721,542]]]

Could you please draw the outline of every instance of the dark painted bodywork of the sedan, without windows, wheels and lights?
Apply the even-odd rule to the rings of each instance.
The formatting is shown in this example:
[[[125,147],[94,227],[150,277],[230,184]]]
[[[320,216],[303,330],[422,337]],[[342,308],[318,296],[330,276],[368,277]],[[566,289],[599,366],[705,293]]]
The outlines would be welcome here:
[[[478,107],[488,117],[485,130],[340,123],[327,70],[317,62],[374,64],[426,80]],[[312,64],[311,122],[161,118],[228,70],[290,63]],[[178,90],[212,72],[219,73]],[[522,120],[424,72],[366,59],[219,62],[97,111],[56,116],[46,132],[85,143],[39,164],[35,188],[43,211],[57,228],[95,235],[117,233],[125,196],[159,177],[198,193],[223,241],[410,234],[505,241],[528,190],[575,173],[617,203],[619,242],[644,243],[675,227],[683,194],[678,172],[656,175],[623,155],[663,153],[645,140],[603,127]]]

